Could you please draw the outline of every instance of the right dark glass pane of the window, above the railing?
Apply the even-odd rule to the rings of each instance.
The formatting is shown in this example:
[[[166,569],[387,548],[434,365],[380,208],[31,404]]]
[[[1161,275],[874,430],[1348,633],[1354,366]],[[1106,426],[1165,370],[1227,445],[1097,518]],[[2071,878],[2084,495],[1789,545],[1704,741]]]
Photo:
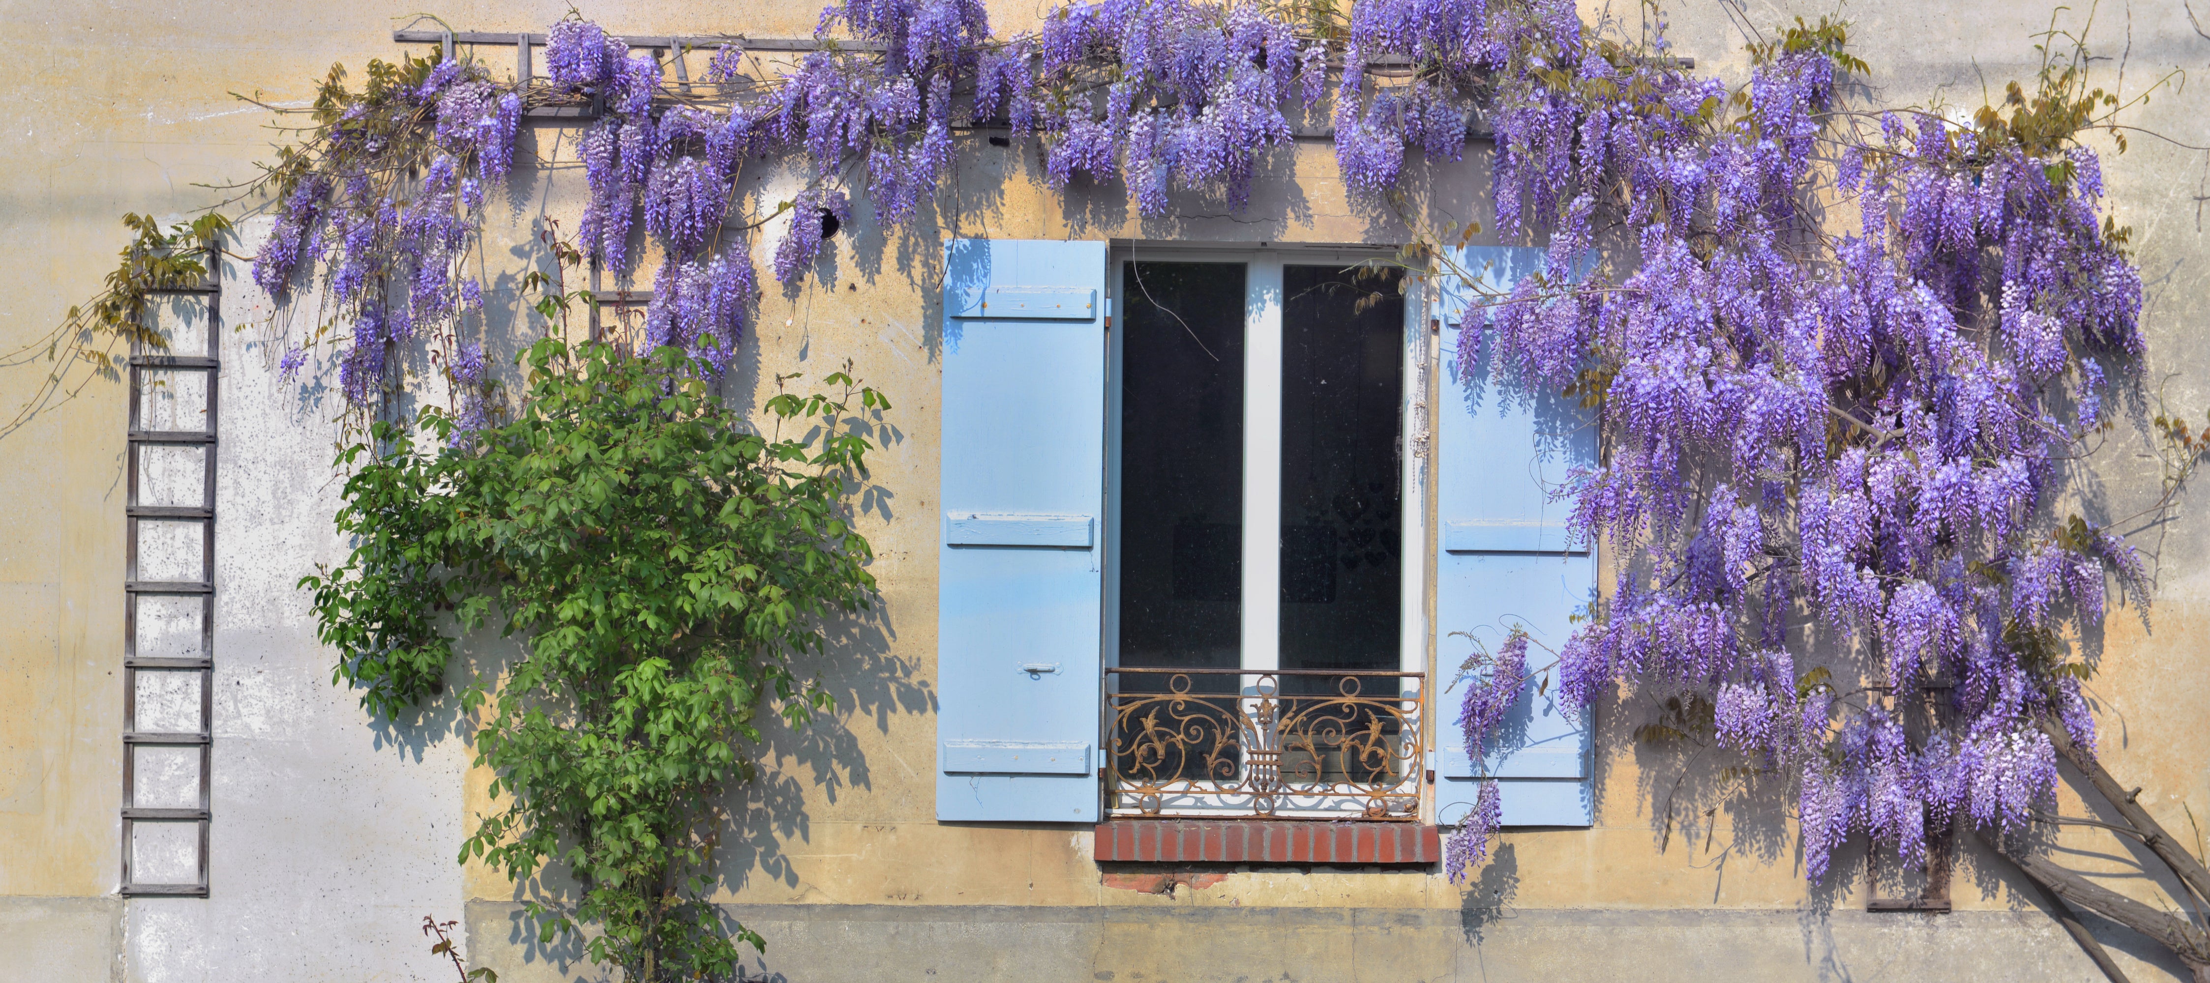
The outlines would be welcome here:
[[[1399,667],[1403,296],[1395,269],[1282,267],[1282,667]],[[1284,678],[1291,691],[1337,680]],[[1364,685],[1375,694],[1372,680]]]

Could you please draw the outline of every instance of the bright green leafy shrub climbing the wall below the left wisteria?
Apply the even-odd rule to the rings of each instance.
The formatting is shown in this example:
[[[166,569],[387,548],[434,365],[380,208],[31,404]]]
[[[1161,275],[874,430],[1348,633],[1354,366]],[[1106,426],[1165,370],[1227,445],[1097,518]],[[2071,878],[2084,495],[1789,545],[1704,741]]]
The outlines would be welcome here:
[[[457,632],[499,621],[526,656],[460,700],[484,720],[475,762],[502,804],[462,846],[526,881],[559,864],[572,910],[546,937],[603,926],[588,952],[628,979],[727,974],[743,928],[705,903],[718,795],[751,778],[765,711],[802,725],[831,698],[800,676],[822,625],[869,607],[864,475],[882,393],[767,402],[800,437],[751,433],[678,349],[630,356],[541,340],[517,420],[471,446],[415,448],[376,424],[340,466],[356,550],[301,581],[336,678],[400,711],[442,689]],[[427,413],[433,437],[451,417]]]

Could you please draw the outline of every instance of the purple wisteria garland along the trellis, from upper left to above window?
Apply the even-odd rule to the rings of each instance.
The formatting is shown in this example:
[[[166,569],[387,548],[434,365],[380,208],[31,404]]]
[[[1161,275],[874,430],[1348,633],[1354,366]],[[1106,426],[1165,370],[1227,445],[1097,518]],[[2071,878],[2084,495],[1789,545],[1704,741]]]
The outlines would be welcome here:
[[[780,73],[754,73],[725,46],[683,91],[654,53],[566,18],[548,33],[546,84],[495,84],[473,62],[435,57],[371,64],[367,93],[332,75],[316,139],[276,168],[278,225],[256,278],[281,294],[301,267],[325,269],[338,320],[354,327],[343,389],[354,404],[380,400],[402,384],[398,347],[464,307],[460,256],[486,188],[513,168],[524,104],[588,104],[599,119],[577,146],[590,186],[581,250],[628,281],[639,241],[654,243],[639,342],[678,345],[718,371],[758,296],[740,232],[765,219],[738,214],[734,194],[747,159],[796,155],[813,172],[778,208],[789,212],[774,250],[785,285],[813,269],[855,201],[880,225],[926,212],[953,166],[953,130],[968,124],[1041,137],[1054,186],[1123,179],[1143,214],[1162,214],[1174,190],[1242,205],[1269,148],[1291,141],[1291,119],[1328,117],[1328,77],[1341,75],[1339,157],[1379,161],[1350,168],[1357,188],[1379,190],[1406,146],[1459,155],[1483,73],[1514,64],[1532,38],[1578,38],[1571,9],[1545,2],[1478,15],[1361,4],[1346,27],[1253,2],[1101,0],[999,42],[975,0],[849,0],[820,20],[838,44]],[[1414,60],[1434,66],[1401,68]],[[1401,84],[1366,80],[1368,68]],[[964,91],[972,97],[955,99]]]

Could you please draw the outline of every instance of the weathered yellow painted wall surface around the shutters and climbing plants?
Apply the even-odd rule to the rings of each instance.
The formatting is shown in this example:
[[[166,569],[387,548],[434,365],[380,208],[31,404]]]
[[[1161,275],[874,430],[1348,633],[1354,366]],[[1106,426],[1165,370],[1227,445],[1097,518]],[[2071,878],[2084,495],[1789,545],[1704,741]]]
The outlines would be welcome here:
[[[228,91],[303,99],[309,77],[332,62],[360,66],[389,57],[391,18],[411,4],[312,7],[278,2],[124,9],[113,4],[9,4],[18,33],[38,38],[0,75],[0,99],[15,106],[0,130],[0,269],[15,289],[0,298],[0,351],[40,338],[71,303],[93,294],[108,269],[126,210],[179,216],[221,199],[197,183],[252,177],[265,157],[265,113]],[[453,27],[541,31],[566,4],[464,2],[438,9]],[[583,13],[628,33],[802,35],[815,20],[809,2],[762,4],[603,2]],[[1598,7],[1589,7],[1598,15]],[[1772,24],[1812,9],[1757,7]],[[1870,2],[1848,11],[1854,38],[1874,64],[1887,102],[1947,99],[1980,104],[1982,80],[2000,86],[2031,66],[2031,35],[2046,11],[1993,11],[1980,4]],[[1030,7],[994,2],[999,29],[1032,18]],[[2106,20],[2115,18],[2104,11]],[[2210,40],[2186,13],[2133,11],[2108,20],[2097,40],[2117,51],[2130,29],[2128,91],[2166,68],[2199,71]],[[1673,11],[1675,51],[1739,77],[1735,22],[1717,11]],[[480,53],[506,71],[513,49]],[[541,64],[541,62],[539,62]],[[2115,64],[2113,64],[2115,68]],[[2210,113],[2197,91],[2159,93],[2135,121],[2181,144],[2210,144]],[[533,128],[537,150],[561,155],[575,130]],[[1478,219],[1494,230],[1483,186],[1483,146],[1467,161],[1436,166],[1419,183],[1423,221]],[[2206,241],[2199,219],[2203,155],[2144,135],[2133,150],[2106,157],[2115,212],[2137,230],[2150,285],[2150,389],[2181,411],[2210,406],[2210,358],[2201,347]],[[789,172],[747,170],[754,208],[796,190]],[[541,216],[572,228],[581,175],[537,172],[511,201],[486,254],[504,263]],[[1187,199],[1185,216],[1134,219],[1116,192],[1061,194],[1041,179],[1032,144],[986,146],[961,137],[957,179],[933,225],[877,230],[869,216],[838,236],[824,274],[793,294],[769,287],[760,329],[734,378],[738,395],[762,398],[778,373],[809,378],[851,358],[855,373],[897,404],[895,440],[873,457],[888,508],[866,517],[882,581],[882,621],[822,667],[840,696],[840,716],[804,733],[776,733],[771,769],[732,797],[738,826],[725,837],[729,901],[886,903],[886,906],[1361,906],[1461,908],[1465,888],[1439,875],[1251,870],[1174,897],[1107,888],[1078,828],[941,826],[933,820],[935,676],[935,468],[939,329],[935,292],[944,236],[1138,239],[1200,243],[1397,243],[1388,216],[1346,201],[1324,141],[1299,141],[1269,159],[1253,205]],[[769,230],[780,234],[780,223]],[[1494,241],[1494,232],[1478,236]],[[774,239],[754,243],[765,272]],[[495,300],[513,300],[495,292]],[[243,325],[261,338],[272,325]],[[0,369],[0,409],[20,404],[42,362]],[[225,417],[225,435],[248,426]],[[276,424],[276,422],[267,422]],[[228,437],[225,437],[228,440]],[[2157,473],[2135,437],[2097,459],[2097,495],[2115,512],[2155,495]],[[117,877],[119,656],[122,656],[122,453],[124,391],[93,382],[69,404],[40,411],[0,437],[0,895],[104,897]],[[2188,811],[2210,820],[2210,744],[2201,722],[2210,683],[2199,669],[2206,643],[2206,532],[2183,517],[2146,541],[2157,548],[2155,630],[2130,612],[2108,623],[2104,674],[2104,753],[2172,831],[2192,831]],[[301,559],[301,572],[307,561]],[[221,654],[219,654],[221,658]],[[1865,897],[1856,866],[1823,888],[1801,877],[1792,831],[1770,800],[1737,808],[1713,795],[1711,755],[1633,747],[1640,702],[1598,720],[1598,822],[1589,831],[1512,833],[1498,866],[1478,881],[1483,897],[1525,908],[1834,908]],[[1671,824],[1664,802],[1680,782]],[[471,773],[466,808],[486,808],[486,775]],[[1706,808],[1713,808],[1706,813]],[[2084,806],[2066,791],[2062,811]],[[2108,850],[2111,842],[2071,831],[2069,846]],[[1505,862],[1507,857],[1507,862]],[[2071,857],[2095,864],[2086,855]],[[2009,877],[1967,857],[1956,877],[1958,908],[2018,908]],[[2153,897],[2139,881],[2119,890]],[[511,899],[499,877],[469,868],[469,899]],[[404,899],[393,899],[404,903]]]

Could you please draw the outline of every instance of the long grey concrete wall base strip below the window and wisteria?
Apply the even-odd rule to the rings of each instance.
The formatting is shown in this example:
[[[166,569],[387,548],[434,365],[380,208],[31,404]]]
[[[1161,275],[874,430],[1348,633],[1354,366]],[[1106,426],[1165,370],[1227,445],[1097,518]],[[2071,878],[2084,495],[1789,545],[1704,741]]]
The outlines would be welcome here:
[[[767,937],[745,979],[771,983],[2102,981],[2035,910],[822,903],[727,912]],[[469,950],[502,983],[603,979],[575,961],[575,948],[537,950],[519,919],[513,903],[469,906]],[[2146,941],[2104,928],[2126,963],[2164,963]]]

